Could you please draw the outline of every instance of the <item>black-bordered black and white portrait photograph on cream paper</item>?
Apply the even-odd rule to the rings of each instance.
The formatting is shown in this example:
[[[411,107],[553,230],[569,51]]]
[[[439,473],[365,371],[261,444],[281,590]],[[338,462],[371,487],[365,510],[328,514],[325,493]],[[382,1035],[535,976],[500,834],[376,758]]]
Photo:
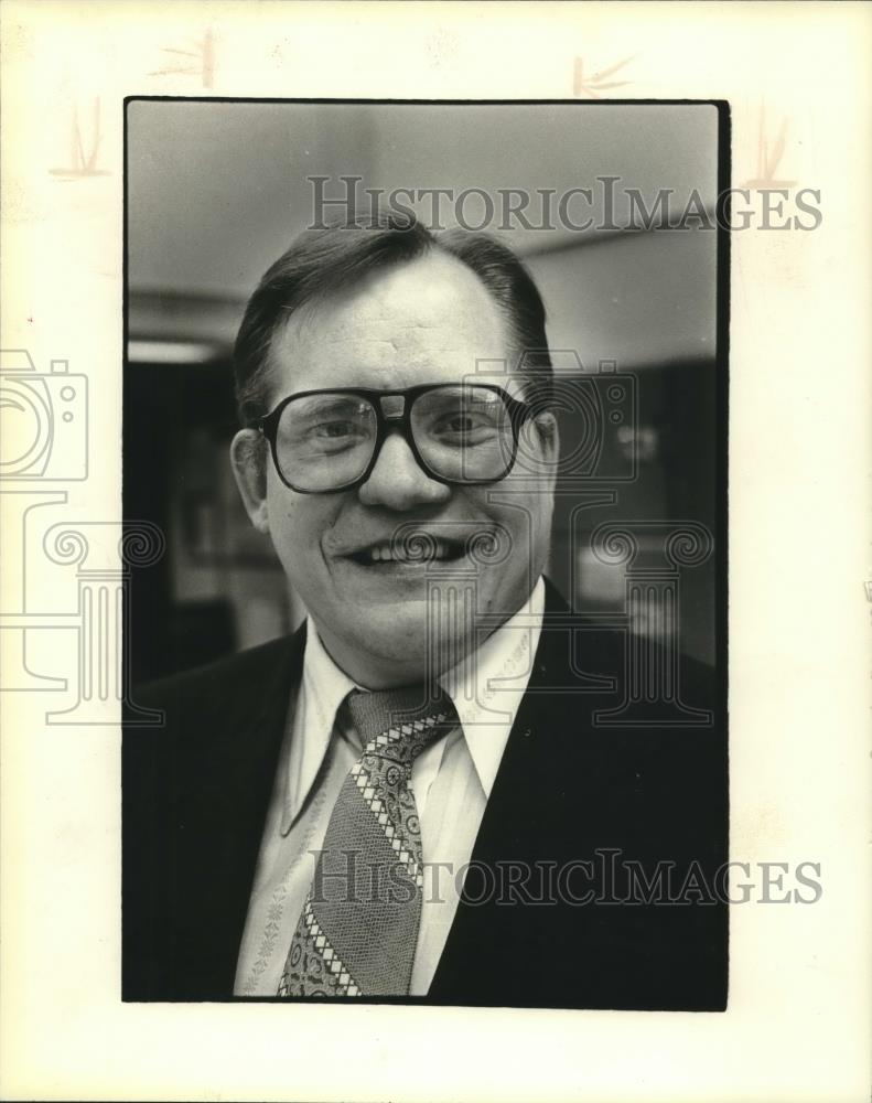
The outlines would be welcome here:
[[[728,135],[128,101],[125,1000],[726,1007]]]

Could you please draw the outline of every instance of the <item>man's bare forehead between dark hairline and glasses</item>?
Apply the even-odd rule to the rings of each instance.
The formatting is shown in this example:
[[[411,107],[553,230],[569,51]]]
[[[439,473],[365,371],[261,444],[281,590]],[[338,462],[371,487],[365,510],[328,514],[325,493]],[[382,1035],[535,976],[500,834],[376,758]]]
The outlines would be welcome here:
[[[272,341],[271,398],[457,382],[508,347],[507,321],[478,277],[431,253],[295,311]]]

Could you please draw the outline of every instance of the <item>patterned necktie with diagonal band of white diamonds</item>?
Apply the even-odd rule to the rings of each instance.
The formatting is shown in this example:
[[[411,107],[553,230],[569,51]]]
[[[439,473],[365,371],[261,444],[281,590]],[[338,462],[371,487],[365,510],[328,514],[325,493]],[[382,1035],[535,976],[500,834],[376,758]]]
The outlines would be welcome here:
[[[408,994],[421,923],[421,831],[409,788],[421,751],[460,722],[424,686],[348,695],[364,745],[327,824],[280,996]]]

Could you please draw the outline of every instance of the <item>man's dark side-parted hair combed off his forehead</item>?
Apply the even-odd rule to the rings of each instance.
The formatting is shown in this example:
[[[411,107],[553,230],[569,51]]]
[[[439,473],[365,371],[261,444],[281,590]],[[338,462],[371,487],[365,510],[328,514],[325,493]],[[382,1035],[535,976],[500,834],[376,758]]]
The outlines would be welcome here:
[[[306,302],[349,287],[389,265],[406,264],[439,249],[472,269],[509,319],[524,395],[537,411],[547,408],[551,357],[545,335],[545,307],[517,256],[485,234],[452,229],[430,233],[410,213],[377,212],[348,222],[304,231],[267,270],[248,300],[234,349],[236,398],[244,425],[267,409],[267,376],[272,338]]]

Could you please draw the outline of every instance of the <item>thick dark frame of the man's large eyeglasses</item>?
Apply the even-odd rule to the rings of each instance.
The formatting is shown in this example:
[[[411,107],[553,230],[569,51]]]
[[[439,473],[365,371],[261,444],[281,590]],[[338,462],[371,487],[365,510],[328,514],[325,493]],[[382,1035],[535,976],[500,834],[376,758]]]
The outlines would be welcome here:
[[[446,479],[428,464],[415,442],[415,435],[411,428],[411,411],[416,400],[420,398],[421,395],[429,394],[432,390],[456,390],[459,386],[465,386],[467,388],[475,387],[478,390],[491,390],[494,394],[499,395],[506,405],[509,424],[512,425],[512,456],[509,457],[505,470],[499,475],[494,475],[487,479]],[[355,398],[365,398],[373,407],[376,415],[376,437],[373,443],[373,456],[369,459],[366,469],[356,479],[342,483],[338,486],[331,486],[329,490],[303,490],[300,486],[295,486],[290,479],[284,475],[284,472],[281,470],[279,464],[278,432],[281,415],[286,406],[289,406],[292,401],[295,401],[298,398],[310,398],[312,395],[353,395]],[[383,403],[388,398],[402,398],[403,401],[401,407],[396,411],[390,410],[390,413],[386,413]],[[292,490],[298,494],[336,494],[340,491],[355,490],[357,486],[362,486],[366,482],[378,462],[378,457],[381,454],[381,446],[387,440],[388,433],[391,430],[401,433],[403,440],[409,446],[409,450],[415,457],[418,467],[424,472],[426,475],[428,475],[428,478],[433,479],[435,482],[444,483],[448,486],[480,486],[486,483],[499,482],[499,480],[505,479],[514,468],[515,460],[518,456],[518,440],[520,438],[521,426],[532,416],[534,409],[528,403],[513,398],[508,392],[503,389],[503,387],[498,387],[493,383],[423,383],[419,386],[406,387],[401,390],[370,390],[366,387],[326,387],[321,390],[301,390],[299,394],[289,395],[287,398],[282,398],[279,405],[276,406],[276,408],[269,414],[266,414],[261,418],[257,418],[257,420],[252,424],[252,428],[261,432],[269,441],[270,452],[272,453],[272,463],[279,479],[281,479],[289,490]]]

